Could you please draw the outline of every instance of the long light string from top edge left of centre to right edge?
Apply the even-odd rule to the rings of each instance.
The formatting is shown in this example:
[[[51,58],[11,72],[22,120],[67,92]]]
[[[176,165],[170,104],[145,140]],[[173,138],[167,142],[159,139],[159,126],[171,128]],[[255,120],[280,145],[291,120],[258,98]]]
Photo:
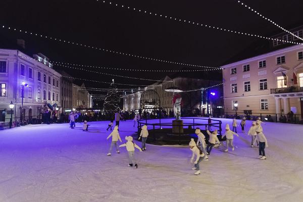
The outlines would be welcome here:
[[[116,7],[119,6],[119,7],[122,7],[124,9],[132,10],[134,12],[143,13],[143,14],[146,14],[146,15],[149,15],[149,16],[162,17],[162,18],[165,18],[165,19],[168,19],[168,20],[173,20],[173,21],[179,22],[179,23],[186,23],[186,24],[196,25],[196,26],[199,26],[199,27],[211,28],[211,29],[215,29],[215,30],[219,30],[219,31],[226,31],[226,32],[231,32],[231,33],[235,33],[235,34],[240,34],[240,35],[248,35],[248,36],[258,37],[258,38],[263,38],[263,39],[268,39],[268,40],[282,41],[284,43],[293,43],[293,44],[303,45],[303,43],[299,43],[299,42],[281,40],[281,39],[278,39],[278,38],[271,38],[271,37],[261,36],[259,34],[251,34],[251,33],[246,33],[246,32],[239,32],[239,31],[236,31],[236,30],[224,29],[224,28],[221,28],[221,27],[213,26],[213,25],[196,23],[196,22],[192,22],[192,21],[189,21],[189,20],[184,20],[184,19],[180,19],[180,18],[176,18],[176,17],[169,17],[169,16],[162,15],[162,14],[148,12],[146,10],[141,10],[141,9],[137,9],[137,8],[131,8],[129,6],[112,4],[112,2],[109,2],[109,1],[99,1],[99,0],[96,0],[96,1],[97,2],[102,2],[102,3],[109,3],[112,6],[116,6]]]

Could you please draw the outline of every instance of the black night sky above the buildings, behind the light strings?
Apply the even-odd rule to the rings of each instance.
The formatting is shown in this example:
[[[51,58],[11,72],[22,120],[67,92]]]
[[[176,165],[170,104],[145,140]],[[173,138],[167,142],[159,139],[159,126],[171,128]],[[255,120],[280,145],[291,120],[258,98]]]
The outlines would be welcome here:
[[[256,40],[251,36],[201,28],[191,24],[179,23],[155,17],[142,12],[122,8],[147,10],[178,17],[197,23],[209,24],[225,29],[256,33],[264,36],[279,33],[281,30],[260,16],[241,7],[234,0],[212,1],[121,1],[102,3],[96,0],[60,1],[16,1],[2,0],[0,24],[28,32],[58,37],[100,48],[153,57],[193,65],[218,67],[243,48]],[[255,0],[243,1],[252,8],[285,28],[302,21],[302,1]],[[116,7],[118,4],[120,6]],[[303,23],[302,23],[303,24]],[[133,69],[182,69],[182,65],[172,65],[156,61],[118,56],[76,45],[29,36],[0,28],[0,47],[7,48],[4,40],[15,41],[22,38],[26,48],[33,53],[43,53],[52,61],[62,61],[81,65],[97,65],[114,68]],[[264,43],[271,41],[262,40]],[[150,84],[153,82],[136,79],[123,79],[113,76],[92,74],[85,71],[60,68],[74,77],[129,84]],[[126,71],[107,71],[94,68],[90,70],[125,76],[161,79],[166,73],[142,73]],[[205,72],[192,73],[194,77]],[[209,75],[211,78],[212,74]],[[214,76],[215,78],[215,76]],[[76,83],[81,83],[77,80]],[[87,87],[105,87],[109,84],[84,82]],[[119,88],[129,87],[120,86]],[[91,92],[97,94],[99,92]]]

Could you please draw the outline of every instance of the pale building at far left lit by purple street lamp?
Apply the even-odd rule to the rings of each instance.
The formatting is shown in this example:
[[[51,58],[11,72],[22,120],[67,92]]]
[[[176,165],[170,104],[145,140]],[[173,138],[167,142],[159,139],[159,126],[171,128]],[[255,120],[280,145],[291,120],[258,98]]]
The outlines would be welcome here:
[[[9,121],[5,118],[11,117],[11,102],[15,105],[13,118],[20,118],[22,97],[24,121],[40,118],[47,104],[60,105],[61,74],[52,67],[42,54],[31,58],[15,49],[0,49],[0,121]]]

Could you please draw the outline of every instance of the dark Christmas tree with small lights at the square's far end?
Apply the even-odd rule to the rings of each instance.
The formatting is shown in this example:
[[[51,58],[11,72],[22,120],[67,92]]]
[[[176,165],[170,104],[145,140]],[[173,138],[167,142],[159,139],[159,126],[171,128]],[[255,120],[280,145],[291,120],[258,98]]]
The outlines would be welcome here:
[[[111,83],[108,93],[106,95],[106,98],[104,100],[104,112],[109,113],[109,112],[116,112],[120,111],[120,95],[117,90],[117,86],[113,82]]]

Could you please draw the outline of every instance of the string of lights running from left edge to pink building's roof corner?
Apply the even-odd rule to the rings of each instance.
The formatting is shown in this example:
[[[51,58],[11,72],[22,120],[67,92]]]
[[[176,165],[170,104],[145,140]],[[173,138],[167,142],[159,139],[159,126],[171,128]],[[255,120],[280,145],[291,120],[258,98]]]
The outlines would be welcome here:
[[[59,41],[59,42],[62,42],[64,44],[78,45],[78,46],[81,46],[81,47],[95,49],[97,51],[113,53],[113,54],[120,55],[120,56],[130,56],[130,57],[135,57],[135,58],[138,58],[138,59],[158,61],[158,62],[167,63],[167,64],[183,65],[183,66],[187,66],[187,67],[201,67],[201,68],[210,68],[210,69],[221,69],[221,68],[218,68],[218,67],[208,67],[208,66],[203,66],[203,65],[191,65],[191,64],[188,64],[188,63],[174,62],[174,61],[168,61],[168,60],[163,60],[163,59],[159,59],[159,58],[144,57],[144,56],[139,56],[139,55],[134,55],[134,54],[129,54],[129,53],[118,52],[118,51],[114,51],[114,50],[111,50],[111,49],[100,48],[100,47],[95,47],[95,46],[92,46],[92,45],[82,44],[80,42],[64,40],[64,39],[60,39],[60,38],[57,38],[57,37],[45,36],[43,34],[38,34],[38,33],[24,31],[24,30],[21,30],[21,29],[11,28],[11,27],[5,26],[5,25],[3,25],[2,28],[7,28],[10,31],[19,31],[19,32],[22,32],[22,33],[25,33],[25,34],[29,34],[31,36],[37,36],[37,37],[45,38],[45,39],[48,39],[48,40]]]

